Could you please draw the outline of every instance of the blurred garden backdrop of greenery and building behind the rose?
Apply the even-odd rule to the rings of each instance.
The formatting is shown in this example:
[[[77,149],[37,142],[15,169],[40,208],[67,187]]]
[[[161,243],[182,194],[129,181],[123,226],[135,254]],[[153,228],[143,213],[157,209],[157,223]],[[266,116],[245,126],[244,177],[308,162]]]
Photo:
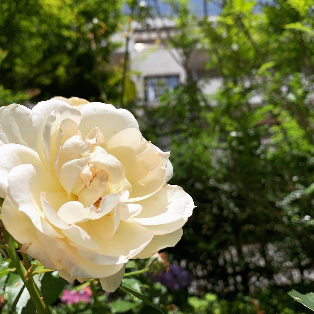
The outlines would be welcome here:
[[[109,102],[171,151],[170,183],[198,207],[162,256],[169,272],[139,289],[168,313],[309,313],[287,292],[314,291],[313,0],[2,0],[0,12],[0,106]],[[119,290],[99,297],[101,310],[56,296],[53,313],[154,313]]]

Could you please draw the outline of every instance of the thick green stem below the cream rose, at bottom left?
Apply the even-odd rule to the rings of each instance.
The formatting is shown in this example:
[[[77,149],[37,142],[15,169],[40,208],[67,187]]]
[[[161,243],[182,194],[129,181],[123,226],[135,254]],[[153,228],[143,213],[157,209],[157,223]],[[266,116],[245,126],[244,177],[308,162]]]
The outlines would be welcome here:
[[[41,299],[40,294],[37,290],[37,286],[33,279],[26,280],[27,277],[27,270],[25,269],[24,265],[19,259],[19,256],[17,255],[13,243],[12,236],[4,230],[4,237],[7,242],[7,247],[5,250],[8,252],[9,257],[11,258],[11,262],[16,268],[17,273],[22,278],[25,287],[27,288],[28,292],[30,293],[30,297],[37,309],[38,314],[49,314],[49,311],[47,309],[46,304]]]

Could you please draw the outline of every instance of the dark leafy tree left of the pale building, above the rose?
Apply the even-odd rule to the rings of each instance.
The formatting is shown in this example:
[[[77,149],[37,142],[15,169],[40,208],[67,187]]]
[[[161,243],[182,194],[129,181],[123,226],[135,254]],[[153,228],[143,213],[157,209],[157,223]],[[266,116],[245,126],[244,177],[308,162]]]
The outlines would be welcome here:
[[[113,70],[120,2],[4,1],[0,4],[0,66],[5,88],[37,89],[40,99],[53,95],[106,99],[114,92],[106,81]],[[104,71],[104,68],[106,71]]]

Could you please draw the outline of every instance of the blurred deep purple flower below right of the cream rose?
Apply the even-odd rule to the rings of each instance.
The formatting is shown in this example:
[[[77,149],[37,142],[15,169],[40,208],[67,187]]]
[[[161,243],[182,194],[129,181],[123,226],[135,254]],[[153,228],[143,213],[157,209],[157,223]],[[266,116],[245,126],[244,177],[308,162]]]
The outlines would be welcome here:
[[[169,266],[169,271],[160,271],[153,277],[154,282],[160,282],[171,290],[184,288],[188,286],[192,280],[193,276],[189,271],[175,264]]]

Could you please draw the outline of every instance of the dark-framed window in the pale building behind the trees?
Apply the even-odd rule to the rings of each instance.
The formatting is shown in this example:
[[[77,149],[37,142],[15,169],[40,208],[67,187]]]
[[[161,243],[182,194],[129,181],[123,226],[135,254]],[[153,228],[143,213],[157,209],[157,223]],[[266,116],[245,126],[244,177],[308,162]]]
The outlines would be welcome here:
[[[145,77],[145,98],[147,102],[157,102],[166,90],[172,91],[179,84],[179,75]]]

